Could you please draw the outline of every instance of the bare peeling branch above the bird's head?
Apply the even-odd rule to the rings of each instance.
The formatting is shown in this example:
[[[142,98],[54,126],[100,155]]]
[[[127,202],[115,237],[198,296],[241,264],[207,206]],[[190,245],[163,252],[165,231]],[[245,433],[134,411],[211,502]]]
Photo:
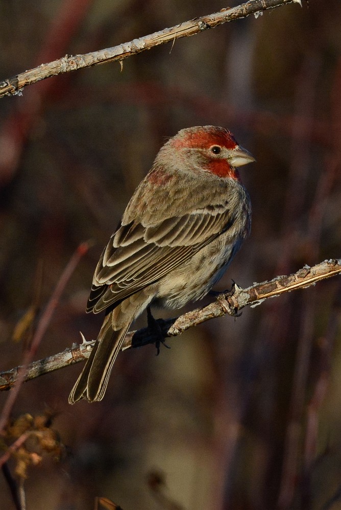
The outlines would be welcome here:
[[[20,93],[23,87],[27,85],[64,72],[75,71],[76,69],[82,69],[84,67],[103,64],[114,60],[121,63],[127,57],[151,49],[154,46],[159,46],[167,42],[174,43],[176,39],[180,39],[181,37],[190,37],[204,30],[217,27],[217,25],[227,23],[228,21],[245,18],[251,14],[291,3],[301,4],[301,0],[249,0],[249,2],[233,7],[232,9],[226,8],[214,14],[184,21],[175,27],[167,28],[112,48],[101,49],[98,52],[91,52],[85,55],[65,55],[65,57],[59,60],[41,64],[39,67],[21,72],[14,77],[4,80],[0,83],[0,97],[15,95]]]

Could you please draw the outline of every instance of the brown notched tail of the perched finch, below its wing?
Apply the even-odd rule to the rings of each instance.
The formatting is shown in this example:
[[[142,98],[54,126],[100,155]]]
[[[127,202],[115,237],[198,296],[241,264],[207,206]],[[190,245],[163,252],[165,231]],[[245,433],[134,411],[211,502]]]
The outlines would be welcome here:
[[[69,396],[70,404],[82,398],[89,402],[102,400],[112,366],[133,320],[134,316],[131,320],[125,321],[120,329],[114,330],[112,312],[107,315],[85,367],[72,388]]]

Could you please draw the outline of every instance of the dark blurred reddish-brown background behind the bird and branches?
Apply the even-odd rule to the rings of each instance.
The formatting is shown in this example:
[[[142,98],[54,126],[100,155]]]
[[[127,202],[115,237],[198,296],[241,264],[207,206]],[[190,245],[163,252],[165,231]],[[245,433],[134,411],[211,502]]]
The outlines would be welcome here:
[[[0,100],[1,370],[20,364],[29,335],[14,341],[17,324],[44,309],[89,239],[35,358],[79,331],[96,337],[103,318],[85,305],[102,248],[183,127],[228,127],[257,159],[241,169],[251,237],[217,290],[341,256],[341,5],[302,3]],[[0,80],[224,7],[2,2]],[[28,508],[90,509],[95,496],[124,510],[341,508],[340,307],[335,277],[193,328],[158,357],[153,346],[121,353],[96,404],[67,403],[80,364],[25,384],[13,416],[56,413],[66,446],[29,469]],[[3,476],[0,494],[1,510],[14,508]]]

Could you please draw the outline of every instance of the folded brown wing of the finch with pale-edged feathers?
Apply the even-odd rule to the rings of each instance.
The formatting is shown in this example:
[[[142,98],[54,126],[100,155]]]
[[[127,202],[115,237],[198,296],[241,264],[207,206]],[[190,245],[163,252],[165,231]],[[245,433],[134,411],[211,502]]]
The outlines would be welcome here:
[[[233,222],[229,211],[214,212],[168,218],[144,228],[140,223],[122,225],[111,237],[96,268],[87,310],[98,313],[113,307],[116,302],[157,282],[226,232]],[[117,234],[124,240],[123,246],[114,246]],[[130,244],[129,239],[132,239]]]

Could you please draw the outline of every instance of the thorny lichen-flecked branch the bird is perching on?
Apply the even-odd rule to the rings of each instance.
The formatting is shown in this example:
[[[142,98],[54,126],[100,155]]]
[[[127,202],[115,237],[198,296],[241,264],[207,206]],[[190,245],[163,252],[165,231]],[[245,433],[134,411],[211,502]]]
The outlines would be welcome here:
[[[323,279],[341,274],[341,259],[332,259],[321,262],[315,266],[305,266],[289,276],[277,276],[270,282],[254,284],[246,289],[235,286],[232,291],[222,293],[207,307],[198,308],[174,319],[158,319],[164,337],[176,337],[186,329],[196,326],[215,317],[229,314],[236,316],[237,312],[247,305],[251,308],[257,306],[265,299],[276,297],[284,292],[297,289],[305,289]],[[148,328],[130,331],[125,338],[122,350],[131,347],[140,347],[155,342]],[[81,345],[74,344],[63,352],[54,354],[44,360],[31,363],[27,367],[25,380],[34,379],[39,375],[59,370],[68,365],[73,365],[88,358],[93,342],[84,342]],[[10,389],[17,377],[20,367],[0,372],[0,390]]]

